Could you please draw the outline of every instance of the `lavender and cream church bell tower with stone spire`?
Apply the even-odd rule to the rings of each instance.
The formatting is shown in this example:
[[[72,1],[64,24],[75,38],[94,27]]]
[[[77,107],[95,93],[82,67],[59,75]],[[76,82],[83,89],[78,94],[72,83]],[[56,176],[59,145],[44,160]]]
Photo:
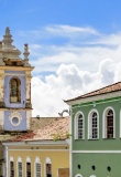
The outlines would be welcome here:
[[[7,27],[0,42],[0,127],[7,132],[26,132],[32,117],[31,71],[29,45],[24,44],[24,59],[12,45]]]

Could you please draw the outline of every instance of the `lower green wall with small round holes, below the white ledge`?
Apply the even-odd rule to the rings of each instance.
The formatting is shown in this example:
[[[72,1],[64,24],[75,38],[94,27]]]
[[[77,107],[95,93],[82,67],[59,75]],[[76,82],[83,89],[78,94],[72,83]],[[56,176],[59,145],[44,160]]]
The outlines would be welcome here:
[[[78,168],[80,165],[80,168]],[[95,166],[95,170],[92,169]],[[84,153],[73,154],[73,175],[81,174],[82,177],[120,177],[121,176],[121,153]],[[108,167],[111,168],[108,171]]]

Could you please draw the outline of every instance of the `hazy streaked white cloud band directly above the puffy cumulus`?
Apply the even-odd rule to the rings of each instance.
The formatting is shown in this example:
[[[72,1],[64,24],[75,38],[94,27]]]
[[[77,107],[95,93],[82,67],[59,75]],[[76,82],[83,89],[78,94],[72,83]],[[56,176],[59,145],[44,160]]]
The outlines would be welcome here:
[[[50,49],[48,49],[50,50]],[[53,51],[53,49],[52,49]],[[120,61],[121,48],[102,48],[102,46],[65,46],[56,48],[53,53],[38,56],[37,60],[31,61],[36,72],[56,72],[61,64],[77,64],[79,69],[85,71],[97,71],[99,63],[103,59],[114,59]],[[40,52],[38,52],[40,53]],[[36,54],[36,53],[35,53]],[[38,55],[38,54],[37,54]]]

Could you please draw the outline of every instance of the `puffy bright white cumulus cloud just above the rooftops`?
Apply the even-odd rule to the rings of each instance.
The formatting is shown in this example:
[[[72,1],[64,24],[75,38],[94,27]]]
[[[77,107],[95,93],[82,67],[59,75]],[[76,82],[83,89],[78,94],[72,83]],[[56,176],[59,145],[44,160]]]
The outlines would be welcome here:
[[[32,79],[33,115],[57,116],[59,112],[68,108],[63,100],[73,98],[113,83],[114,67],[112,65],[112,60],[103,60],[99,64],[98,72],[94,73],[81,71],[75,64],[62,64],[56,75],[46,76],[44,82],[41,77],[34,76]]]

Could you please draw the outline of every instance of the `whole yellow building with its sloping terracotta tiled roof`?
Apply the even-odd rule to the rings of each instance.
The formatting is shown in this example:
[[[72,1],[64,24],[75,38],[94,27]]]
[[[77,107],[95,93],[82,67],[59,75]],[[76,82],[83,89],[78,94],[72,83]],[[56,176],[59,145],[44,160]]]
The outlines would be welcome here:
[[[6,177],[69,177],[69,118],[57,118],[3,145]]]

